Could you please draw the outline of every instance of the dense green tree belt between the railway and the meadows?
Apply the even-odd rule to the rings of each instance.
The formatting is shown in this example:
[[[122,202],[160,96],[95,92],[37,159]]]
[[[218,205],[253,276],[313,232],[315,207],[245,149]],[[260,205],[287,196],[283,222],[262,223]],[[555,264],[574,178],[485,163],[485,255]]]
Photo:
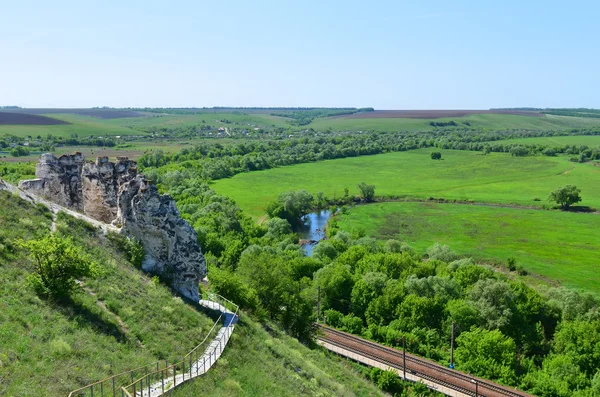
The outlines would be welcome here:
[[[310,336],[320,288],[327,322],[345,331],[391,346],[406,337],[409,351],[447,364],[454,322],[458,369],[540,396],[593,395],[600,315],[591,295],[542,295],[446,246],[423,259],[400,241],[343,232],[306,257],[286,219],[256,225],[201,178],[172,170],[155,172],[198,231],[214,288],[292,335]]]

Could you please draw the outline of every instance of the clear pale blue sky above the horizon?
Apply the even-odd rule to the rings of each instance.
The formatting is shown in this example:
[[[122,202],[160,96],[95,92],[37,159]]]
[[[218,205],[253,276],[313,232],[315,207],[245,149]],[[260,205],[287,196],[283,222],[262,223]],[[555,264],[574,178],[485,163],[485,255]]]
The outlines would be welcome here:
[[[600,2],[2,1],[0,105],[600,108]]]

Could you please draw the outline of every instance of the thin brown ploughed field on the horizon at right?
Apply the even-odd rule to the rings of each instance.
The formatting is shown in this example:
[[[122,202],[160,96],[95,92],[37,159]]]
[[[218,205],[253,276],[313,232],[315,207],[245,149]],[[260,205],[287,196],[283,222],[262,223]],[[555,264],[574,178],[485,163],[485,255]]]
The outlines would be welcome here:
[[[544,117],[542,113],[523,110],[375,110],[343,116],[349,119],[407,118],[439,119],[442,117],[465,117],[472,114],[511,114],[516,116]]]

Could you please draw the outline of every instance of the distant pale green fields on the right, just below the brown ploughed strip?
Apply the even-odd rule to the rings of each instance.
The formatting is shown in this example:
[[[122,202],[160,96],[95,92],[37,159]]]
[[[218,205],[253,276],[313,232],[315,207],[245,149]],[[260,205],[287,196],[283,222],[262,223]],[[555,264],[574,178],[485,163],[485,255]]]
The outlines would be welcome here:
[[[368,115],[362,113],[360,115]],[[337,116],[320,118],[307,125],[307,128],[325,130],[331,128],[335,131],[429,131],[434,127],[429,122],[454,121],[459,126],[469,123],[473,128],[498,129],[531,129],[531,130],[564,130],[570,128],[600,127],[600,119],[584,117],[565,117],[544,115],[541,117],[517,116],[509,114],[471,114],[465,117],[443,118],[358,118],[358,115]],[[467,126],[467,125],[465,125]]]

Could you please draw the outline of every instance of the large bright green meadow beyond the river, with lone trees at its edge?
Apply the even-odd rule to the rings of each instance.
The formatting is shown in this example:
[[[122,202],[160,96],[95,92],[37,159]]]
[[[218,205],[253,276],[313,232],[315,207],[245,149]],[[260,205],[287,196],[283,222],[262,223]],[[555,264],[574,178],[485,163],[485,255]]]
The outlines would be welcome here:
[[[430,149],[327,160],[236,175],[214,182],[214,189],[233,198],[254,217],[281,192],[306,189],[340,197],[344,188],[357,195],[357,184],[376,187],[378,196],[474,200],[488,203],[542,206],[551,191],[574,184],[582,189],[581,205],[600,207],[600,167],[571,163],[561,157],[483,156],[443,150],[441,161]],[[541,201],[534,201],[539,198]]]

